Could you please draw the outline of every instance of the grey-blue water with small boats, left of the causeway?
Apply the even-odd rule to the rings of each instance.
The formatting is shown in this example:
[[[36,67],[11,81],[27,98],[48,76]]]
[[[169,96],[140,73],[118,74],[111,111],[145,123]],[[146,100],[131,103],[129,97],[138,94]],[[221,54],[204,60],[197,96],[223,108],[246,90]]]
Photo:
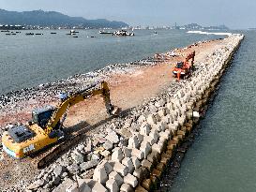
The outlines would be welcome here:
[[[29,32],[43,36],[25,36]],[[135,37],[113,37],[99,35],[98,30],[79,30],[78,38],[67,36],[69,31],[65,30],[56,30],[56,35],[51,32],[22,31],[16,36],[0,33],[0,95],[217,38],[178,30],[158,30],[157,36],[152,30],[135,30]]]

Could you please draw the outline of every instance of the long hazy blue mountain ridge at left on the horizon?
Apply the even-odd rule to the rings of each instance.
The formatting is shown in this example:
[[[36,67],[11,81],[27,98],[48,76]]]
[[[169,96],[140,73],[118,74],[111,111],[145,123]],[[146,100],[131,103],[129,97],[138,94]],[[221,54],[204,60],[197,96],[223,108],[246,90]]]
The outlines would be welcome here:
[[[90,27],[90,28],[120,28],[128,26],[125,22],[110,22],[105,19],[86,20],[83,17],[69,17],[56,11],[8,11],[0,9],[0,24],[15,25],[20,24],[23,26],[38,25],[41,27],[55,26],[55,27]]]

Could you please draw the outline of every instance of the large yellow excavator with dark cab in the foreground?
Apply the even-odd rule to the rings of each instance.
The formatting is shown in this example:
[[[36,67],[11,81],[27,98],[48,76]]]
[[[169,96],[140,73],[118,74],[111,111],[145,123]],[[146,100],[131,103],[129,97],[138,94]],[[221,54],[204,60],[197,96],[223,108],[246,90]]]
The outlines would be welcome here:
[[[108,83],[101,81],[70,96],[63,94],[57,107],[46,106],[33,110],[32,121],[26,125],[11,127],[4,132],[3,149],[8,155],[23,158],[64,139],[65,133],[62,125],[68,108],[90,96],[97,95],[103,96],[106,110],[110,115],[118,115],[120,109],[111,104]]]

